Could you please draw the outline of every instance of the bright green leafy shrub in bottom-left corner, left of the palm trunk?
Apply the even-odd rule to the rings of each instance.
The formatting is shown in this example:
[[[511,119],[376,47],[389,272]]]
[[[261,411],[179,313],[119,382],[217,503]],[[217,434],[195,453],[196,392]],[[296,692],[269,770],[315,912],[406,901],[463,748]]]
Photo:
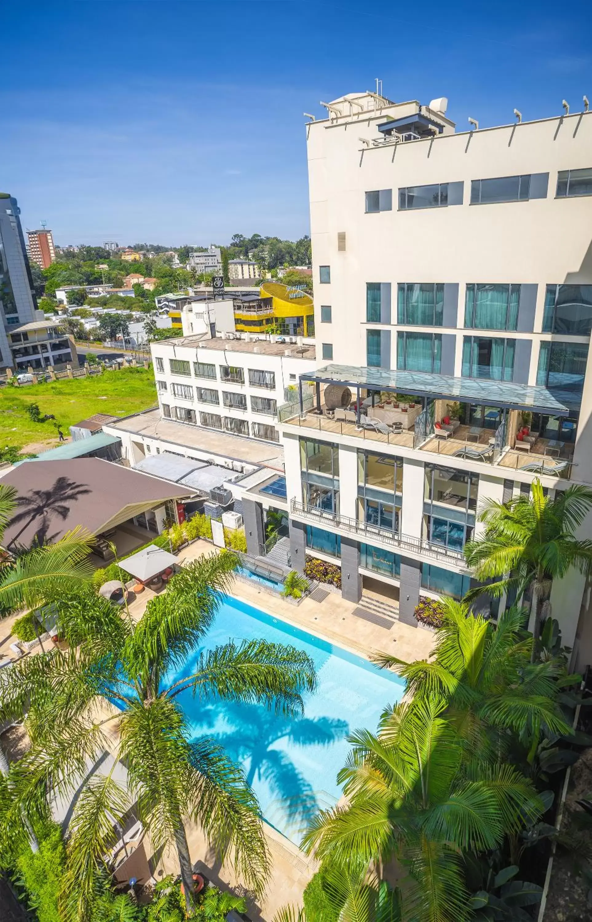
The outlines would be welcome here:
[[[30,847],[17,858],[18,878],[39,922],[60,922],[57,896],[65,867],[65,845],[60,827],[52,823],[40,836],[39,851]]]

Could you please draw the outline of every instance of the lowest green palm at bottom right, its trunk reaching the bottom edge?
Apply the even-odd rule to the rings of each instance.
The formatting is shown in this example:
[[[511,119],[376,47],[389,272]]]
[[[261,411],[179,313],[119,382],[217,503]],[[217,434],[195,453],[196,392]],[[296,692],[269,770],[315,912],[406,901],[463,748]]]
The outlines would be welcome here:
[[[501,845],[543,811],[534,786],[508,764],[469,757],[446,702],[436,694],[388,708],[378,734],[358,731],[337,776],[345,806],[323,810],[307,851],[366,869],[397,859],[403,917],[460,922],[468,916],[462,856]]]

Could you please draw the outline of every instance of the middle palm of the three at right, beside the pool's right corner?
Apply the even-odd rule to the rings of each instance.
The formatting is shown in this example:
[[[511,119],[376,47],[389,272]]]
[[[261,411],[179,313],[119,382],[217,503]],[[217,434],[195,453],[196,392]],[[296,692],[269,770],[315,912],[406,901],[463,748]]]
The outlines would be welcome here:
[[[504,611],[495,628],[473,615],[467,601],[444,598],[442,609],[430,660],[405,663],[396,656],[373,657],[407,680],[408,696],[443,697],[446,716],[468,749],[498,760],[509,741],[507,730],[534,751],[541,733],[572,732],[556,702],[563,663],[552,658],[530,663],[533,641],[521,632],[521,609]]]

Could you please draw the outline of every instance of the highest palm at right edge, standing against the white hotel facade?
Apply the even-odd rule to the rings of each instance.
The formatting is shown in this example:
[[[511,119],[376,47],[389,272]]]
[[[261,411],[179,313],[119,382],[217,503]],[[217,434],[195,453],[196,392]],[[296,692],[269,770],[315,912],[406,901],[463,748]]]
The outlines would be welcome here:
[[[487,585],[491,596],[500,597],[515,588],[518,597],[530,590],[534,610],[531,658],[537,655],[542,606],[551,595],[554,579],[562,579],[571,567],[592,573],[592,541],[574,537],[592,509],[592,490],[574,486],[545,496],[540,480],[532,484],[532,499],[520,494],[507,502],[487,500],[479,520],[485,525],[482,538],[465,547],[468,566]],[[482,592],[474,589],[470,597]]]

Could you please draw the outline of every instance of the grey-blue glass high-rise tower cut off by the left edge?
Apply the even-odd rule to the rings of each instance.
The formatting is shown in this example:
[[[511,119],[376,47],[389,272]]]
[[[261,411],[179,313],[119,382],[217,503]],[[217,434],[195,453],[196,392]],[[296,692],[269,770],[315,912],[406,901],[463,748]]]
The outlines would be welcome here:
[[[37,308],[19,213],[17,199],[0,193],[0,368],[14,366],[8,336]]]

